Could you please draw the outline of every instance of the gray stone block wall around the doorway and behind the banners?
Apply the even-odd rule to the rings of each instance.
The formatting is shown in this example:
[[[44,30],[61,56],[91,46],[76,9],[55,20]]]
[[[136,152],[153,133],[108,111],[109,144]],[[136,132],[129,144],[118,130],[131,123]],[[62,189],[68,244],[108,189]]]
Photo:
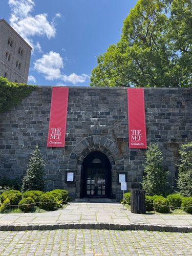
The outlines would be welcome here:
[[[191,89],[144,90],[147,144],[157,142],[169,182],[175,185],[178,150],[191,141]],[[47,148],[51,88],[38,87],[9,112],[0,115],[0,175],[21,179],[36,144],[46,160],[48,188],[68,189],[80,196],[81,165],[90,152],[108,156],[112,194],[119,198],[118,172],[127,174],[129,188],[140,187],[145,150],[129,149],[125,88],[69,88],[65,148]],[[66,170],[75,183],[66,184]]]

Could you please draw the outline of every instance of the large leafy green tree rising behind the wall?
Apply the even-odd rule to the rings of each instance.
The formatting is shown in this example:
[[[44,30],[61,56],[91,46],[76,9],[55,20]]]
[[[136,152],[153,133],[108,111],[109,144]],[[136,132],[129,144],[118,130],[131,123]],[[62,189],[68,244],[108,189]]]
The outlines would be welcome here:
[[[191,0],[139,0],[121,39],[98,56],[91,86],[188,87],[192,65]]]

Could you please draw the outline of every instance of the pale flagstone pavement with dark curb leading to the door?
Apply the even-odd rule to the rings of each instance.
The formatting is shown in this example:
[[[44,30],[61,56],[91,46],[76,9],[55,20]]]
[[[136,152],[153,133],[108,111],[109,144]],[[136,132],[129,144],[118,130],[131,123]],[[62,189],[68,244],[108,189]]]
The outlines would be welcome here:
[[[132,214],[118,203],[71,203],[66,209],[1,214],[0,230],[112,229],[192,232],[192,215]]]

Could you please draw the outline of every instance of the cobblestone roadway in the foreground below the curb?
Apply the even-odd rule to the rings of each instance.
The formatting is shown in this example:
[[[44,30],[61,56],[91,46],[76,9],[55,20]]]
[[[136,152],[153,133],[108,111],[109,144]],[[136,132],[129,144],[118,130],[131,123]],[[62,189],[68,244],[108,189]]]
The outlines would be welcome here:
[[[117,230],[1,231],[0,255],[191,255],[192,233]]]

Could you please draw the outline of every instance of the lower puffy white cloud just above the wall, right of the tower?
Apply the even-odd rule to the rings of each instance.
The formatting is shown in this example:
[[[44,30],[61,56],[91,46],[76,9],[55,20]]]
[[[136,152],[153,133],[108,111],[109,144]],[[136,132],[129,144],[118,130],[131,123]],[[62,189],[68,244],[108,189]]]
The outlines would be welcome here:
[[[61,73],[63,68],[63,59],[59,53],[50,51],[42,55],[40,59],[34,62],[34,69],[45,76],[47,80],[60,79],[64,82],[76,84],[78,82],[85,82],[89,76],[86,74],[76,75],[72,73],[67,76]]]

